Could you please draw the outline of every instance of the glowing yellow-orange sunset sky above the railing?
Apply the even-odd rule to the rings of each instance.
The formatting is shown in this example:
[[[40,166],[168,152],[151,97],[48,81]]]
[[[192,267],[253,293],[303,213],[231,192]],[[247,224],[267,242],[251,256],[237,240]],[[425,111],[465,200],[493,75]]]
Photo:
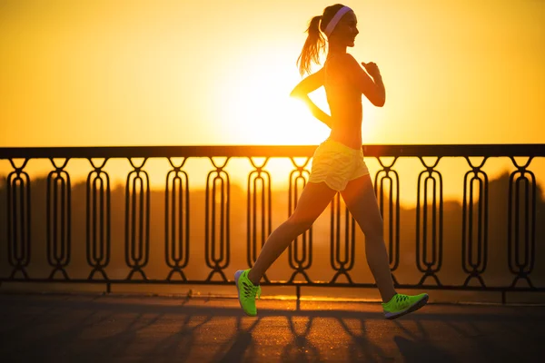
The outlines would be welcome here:
[[[317,144],[288,94],[318,0],[6,1],[1,146]],[[366,143],[545,142],[545,2],[347,1]],[[312,94],[322,107],[322,90]]]

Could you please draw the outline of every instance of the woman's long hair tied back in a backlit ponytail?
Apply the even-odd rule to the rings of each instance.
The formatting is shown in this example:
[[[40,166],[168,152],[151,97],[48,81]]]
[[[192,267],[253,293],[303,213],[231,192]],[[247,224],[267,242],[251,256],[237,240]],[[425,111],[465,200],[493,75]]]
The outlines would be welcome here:
[[[323,9],[323,14],[314,16],[311,19],[310,25],[306,30],[308,33],[307,39],[302,45],[302,51],[297,58],[297,65],[299,66],[299,73],[301,75],[311,73],[312,62],[320,64],[320,54],[325,50],[325,39],[321,31],[323,32],[329,22],[332,21],[333,16],[337,14],[342,8],[342,4],[335,4],[327,6]]]

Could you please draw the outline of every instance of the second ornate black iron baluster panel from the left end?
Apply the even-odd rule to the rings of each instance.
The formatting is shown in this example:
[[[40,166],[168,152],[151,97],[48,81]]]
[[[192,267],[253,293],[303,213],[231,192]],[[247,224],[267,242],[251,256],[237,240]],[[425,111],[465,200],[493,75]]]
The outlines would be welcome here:
[[[64,168],[70,159],[64,159],[61,166],[57,166],[53,158],[49,160],[55,168],[47,175],[47,260],[54,268],[49,279],[61,272],[64,279],[69,280],[64,268],[70,263],[72,188],[70,175]]]

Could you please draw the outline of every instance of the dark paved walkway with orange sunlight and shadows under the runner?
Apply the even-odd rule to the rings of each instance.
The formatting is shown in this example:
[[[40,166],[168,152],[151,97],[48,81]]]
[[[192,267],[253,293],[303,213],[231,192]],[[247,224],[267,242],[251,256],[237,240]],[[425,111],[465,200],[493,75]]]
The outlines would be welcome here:
[[[545,308],[0,294],[0,361],[540,362]]]

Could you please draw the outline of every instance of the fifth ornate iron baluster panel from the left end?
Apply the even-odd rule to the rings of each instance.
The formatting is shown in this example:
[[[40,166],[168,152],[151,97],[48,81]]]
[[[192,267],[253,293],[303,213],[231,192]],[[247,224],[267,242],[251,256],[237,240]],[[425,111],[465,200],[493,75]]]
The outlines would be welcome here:
[[[187,281],[183,269],[189,262],[189,177],[180,166],[175,166],[168,158],[173,170],[166,175],[164,187],[164,259],[171,271],[166,280],[178,273]]]

